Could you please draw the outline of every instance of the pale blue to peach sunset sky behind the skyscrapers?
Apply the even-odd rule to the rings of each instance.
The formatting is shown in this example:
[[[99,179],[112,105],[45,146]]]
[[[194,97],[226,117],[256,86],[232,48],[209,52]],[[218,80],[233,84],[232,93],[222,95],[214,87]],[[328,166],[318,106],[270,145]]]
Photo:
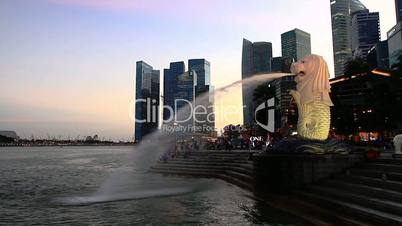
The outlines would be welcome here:
[[[394,0],[361,0],[379,11],[385,39]],[[241,78],[242,38],[311,33],[312,52],[333,73],[329,0],[1,0],[0,130],[21,137],[99,134],[131,139],[135,62],[206,58],[212,83]],[[231,102],[240,107],[240,93]],[[241,119],[239,115],[237,121]]]

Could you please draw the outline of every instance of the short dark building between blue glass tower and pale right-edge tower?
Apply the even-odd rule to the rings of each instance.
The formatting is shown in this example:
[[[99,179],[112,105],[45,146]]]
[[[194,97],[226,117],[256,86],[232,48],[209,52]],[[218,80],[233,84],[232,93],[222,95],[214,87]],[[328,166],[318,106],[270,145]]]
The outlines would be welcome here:
[[[370,69],[388,69],[389,68],[389,55],[388,55],[388,41],[381,41],[375,44],[367,54],[367,63]]]

